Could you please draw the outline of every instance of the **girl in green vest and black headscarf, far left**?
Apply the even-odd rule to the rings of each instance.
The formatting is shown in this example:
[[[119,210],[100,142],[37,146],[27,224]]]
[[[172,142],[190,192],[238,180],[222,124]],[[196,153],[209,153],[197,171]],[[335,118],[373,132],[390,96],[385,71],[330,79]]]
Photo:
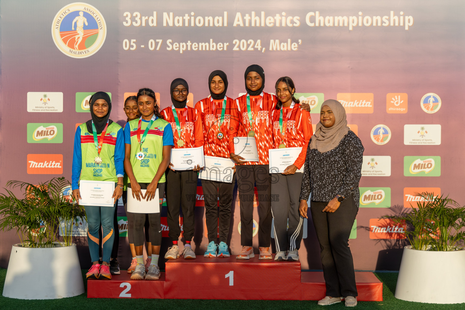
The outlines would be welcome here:
[[[89,279],[111,279],[110,256],[113,247],[113,215],[123,193],[124,136],[120,125],[110,119],[112,102],[106,92],[96,92],[90,99],[92,119],[79,125],[74,136],[73,198],[81,199],[79,180],[117,182],[113,207],[84,206],[87,217],[87,241],[93,261],[86,274]],[[102,260],[99,264],[99,228],[103,229]]]

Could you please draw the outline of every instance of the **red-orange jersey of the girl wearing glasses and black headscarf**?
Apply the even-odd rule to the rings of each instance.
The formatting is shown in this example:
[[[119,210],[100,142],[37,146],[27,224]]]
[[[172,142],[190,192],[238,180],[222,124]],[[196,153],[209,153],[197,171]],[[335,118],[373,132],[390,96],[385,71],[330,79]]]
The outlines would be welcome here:
[[[202,120],[200,119],[199,111],[186,106],[182,109],[176,109],[178,114],[179,125],[181,125],[180,139],[184,140],[184,145],[180,147],[178,145],[179,135],[176,129],[176,120],[174,119],[172,106],[161,110],[161,116],[171,124],[173,128],[173,148],[188,148],[188,147],[199,147],[203,145],[203,129]]]

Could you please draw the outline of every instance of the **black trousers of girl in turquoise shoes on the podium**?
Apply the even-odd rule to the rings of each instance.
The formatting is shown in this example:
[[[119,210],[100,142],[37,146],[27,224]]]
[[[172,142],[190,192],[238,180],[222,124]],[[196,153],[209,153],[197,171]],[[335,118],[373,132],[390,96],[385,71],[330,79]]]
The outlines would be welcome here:
[[[235,182],[235,174],[233,175],[232,183],[202,180],[208,243],[212,241],[217,243],[218,228],[219,242],[227,242],[229,236],[229,227],[231,225],[231,204],[233,203],[233,190]]]

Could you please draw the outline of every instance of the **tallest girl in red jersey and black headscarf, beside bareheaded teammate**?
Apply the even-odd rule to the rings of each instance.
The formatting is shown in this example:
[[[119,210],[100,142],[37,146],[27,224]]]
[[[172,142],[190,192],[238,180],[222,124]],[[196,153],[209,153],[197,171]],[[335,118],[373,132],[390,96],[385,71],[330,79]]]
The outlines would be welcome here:
[[[249,66],[244,78],[247,93],[235,100],[240,123],[234,129],[233,136],[255,138],[259,161],[245,161],[240,154],[230,154],[236,163],[240,203],[242,250],[236,258],[249,259],[255,256],[252,248],[252,213],[256,184],[259,203],[259,259],[271,259],[271,177],[268,172],[268,150],[272,148],[270,111],[276,105],[276,97],[263,92],[265,72],[261,66]]]

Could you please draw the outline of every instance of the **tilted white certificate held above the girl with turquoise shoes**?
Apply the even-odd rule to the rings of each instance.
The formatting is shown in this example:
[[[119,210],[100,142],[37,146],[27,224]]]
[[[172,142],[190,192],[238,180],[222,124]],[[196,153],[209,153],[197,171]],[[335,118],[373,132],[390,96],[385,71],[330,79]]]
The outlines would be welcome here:
[[[205,167],[199,177],[204,180],[233,183],[234,162],[230,158],[205,156]]]

